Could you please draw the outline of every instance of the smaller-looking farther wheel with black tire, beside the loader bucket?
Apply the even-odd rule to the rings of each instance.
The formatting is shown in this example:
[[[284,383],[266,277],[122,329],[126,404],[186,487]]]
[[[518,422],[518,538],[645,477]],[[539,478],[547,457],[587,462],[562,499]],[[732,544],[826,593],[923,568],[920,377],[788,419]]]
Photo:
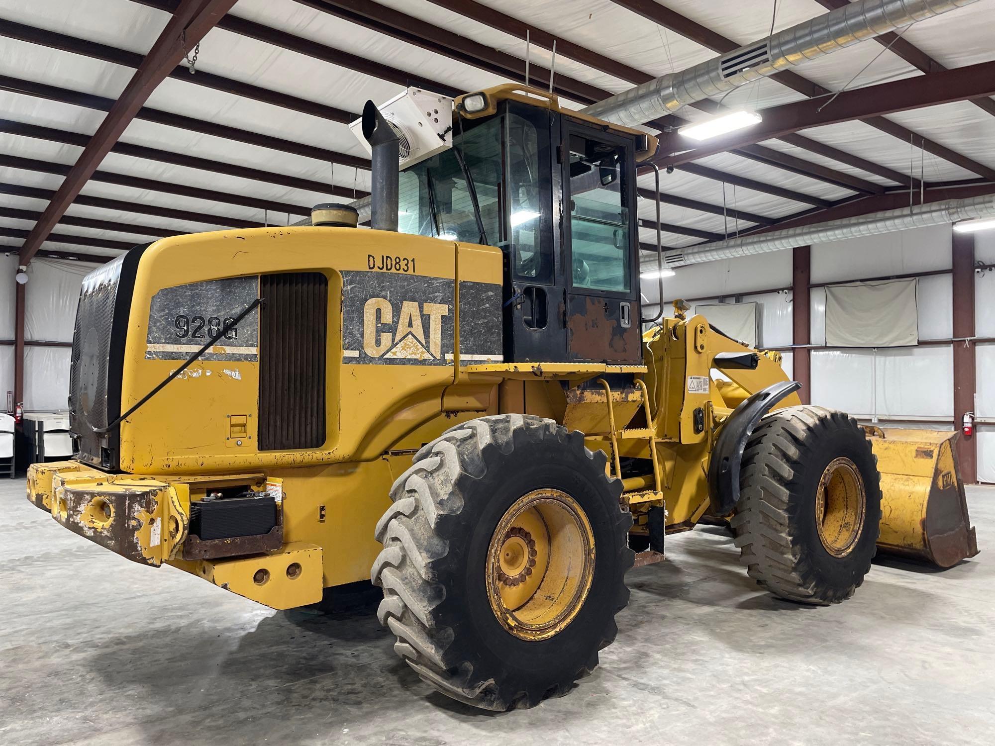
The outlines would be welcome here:
[[[881,521],[881,475],[855,419],[807,405],[767,415],[746,444],[739,495],[730,525],[751,578],[803,604],[853,596]]]

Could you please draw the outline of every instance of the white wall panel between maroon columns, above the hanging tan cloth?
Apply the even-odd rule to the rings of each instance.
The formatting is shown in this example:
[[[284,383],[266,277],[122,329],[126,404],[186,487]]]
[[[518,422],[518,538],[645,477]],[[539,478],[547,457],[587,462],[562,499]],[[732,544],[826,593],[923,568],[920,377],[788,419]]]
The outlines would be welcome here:
[[[949,225],[812,246],[812,281],[861,280],[950,269]]]

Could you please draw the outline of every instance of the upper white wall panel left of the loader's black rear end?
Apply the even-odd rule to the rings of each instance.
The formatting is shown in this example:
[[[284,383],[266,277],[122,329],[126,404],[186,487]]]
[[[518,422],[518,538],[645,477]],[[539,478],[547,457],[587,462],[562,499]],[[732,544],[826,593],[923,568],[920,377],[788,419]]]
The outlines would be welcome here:
[[[28,268],[24,299],[25,338],[72,342],[80,285],[95,265],[36,259]]]

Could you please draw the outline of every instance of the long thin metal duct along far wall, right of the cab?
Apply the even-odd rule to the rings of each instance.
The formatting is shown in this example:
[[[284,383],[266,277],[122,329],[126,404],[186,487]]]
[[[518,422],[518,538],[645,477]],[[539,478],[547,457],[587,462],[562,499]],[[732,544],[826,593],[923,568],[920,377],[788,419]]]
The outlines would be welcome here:
[[[664,253],[667,267],[684,267],[723,259],[746,257],[751,254],[777,252],[794,249],[798,246],[844,241],[861,236],[877,236],[910,228],[925,228],[944,223],[956,223],[975,218],[995,218],[995,194],[982,197],[968,197],[959,200],[944,200],[917,205],[911,209],[901,207],[855,218],[841,218],[811,226],[786,228],[782,231],[741,236],[737,239],[716,241],[700,247],[674,249]],[[649,272],[656,270],[656,258],[647,259],[643,268]]]

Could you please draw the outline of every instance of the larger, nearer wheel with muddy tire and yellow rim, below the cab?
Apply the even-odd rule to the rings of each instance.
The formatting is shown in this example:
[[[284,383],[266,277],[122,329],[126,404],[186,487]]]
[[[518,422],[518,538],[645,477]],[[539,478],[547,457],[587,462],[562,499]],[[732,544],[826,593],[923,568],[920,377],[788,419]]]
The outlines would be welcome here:
[[[377,524],[371,577],[395,652],[424,680],[505,710],[597,666],[634,558],[605,462],[580,433],[527,415],[464,423],[418,452]]]

